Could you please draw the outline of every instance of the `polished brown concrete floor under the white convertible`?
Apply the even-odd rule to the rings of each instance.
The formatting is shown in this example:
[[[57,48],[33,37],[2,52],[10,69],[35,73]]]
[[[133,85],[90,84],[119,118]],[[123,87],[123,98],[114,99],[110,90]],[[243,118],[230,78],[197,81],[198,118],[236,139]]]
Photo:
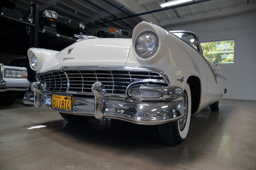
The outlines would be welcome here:
[[[69,123],[46,108],[0,106],[0,170],[255,170],[256,101],[222,100],[192,116],[187,139],[163,144],[155,125]]]

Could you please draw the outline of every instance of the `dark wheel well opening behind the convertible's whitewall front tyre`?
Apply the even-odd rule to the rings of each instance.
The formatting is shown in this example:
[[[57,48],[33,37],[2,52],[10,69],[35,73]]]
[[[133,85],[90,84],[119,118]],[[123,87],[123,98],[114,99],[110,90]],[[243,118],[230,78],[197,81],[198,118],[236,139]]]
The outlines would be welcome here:
[[[191,92],[191,113],[198,110],[201,97],[201,83],[198,77],[190,76],[187,80]]]

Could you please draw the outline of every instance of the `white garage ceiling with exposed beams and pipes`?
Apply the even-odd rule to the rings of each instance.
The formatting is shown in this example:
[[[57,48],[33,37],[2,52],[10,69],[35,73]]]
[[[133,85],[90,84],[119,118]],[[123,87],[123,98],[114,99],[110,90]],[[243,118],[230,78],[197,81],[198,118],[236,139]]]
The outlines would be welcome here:
[[[142,20],[158,26],[170,26],[256,11],[253,0],[194,0],[191,3],[196,4],[184,4],[186,6],[134,16],[161,9],[160,3],[164,2],[166,0],[33,0],[40,10],[56,11],[58,15],[77,22],[129,31]],[[31,0],[16,0],[16,8],[26,11],[30,3]],[[119,20],[121,18],[125,19]]]

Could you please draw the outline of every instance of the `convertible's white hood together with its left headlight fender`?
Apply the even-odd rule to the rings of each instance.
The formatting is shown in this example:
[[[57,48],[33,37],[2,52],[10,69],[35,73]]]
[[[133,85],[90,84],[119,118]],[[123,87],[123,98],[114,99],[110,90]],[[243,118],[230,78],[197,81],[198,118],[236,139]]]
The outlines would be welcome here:
[[[42,73],[62,66],[125,66],[131,45],[131,39],[92,38],[76,42],[59,52],[44,49],[30,51],[37,55],[39,52],[42,56],[41,68],[37,70],[37,73]]]

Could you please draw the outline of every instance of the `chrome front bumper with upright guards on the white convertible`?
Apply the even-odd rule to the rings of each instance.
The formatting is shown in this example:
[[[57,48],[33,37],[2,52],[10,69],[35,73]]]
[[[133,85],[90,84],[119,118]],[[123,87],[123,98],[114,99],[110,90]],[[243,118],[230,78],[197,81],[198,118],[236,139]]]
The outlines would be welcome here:
[[[52,94],[41,90],[44,84],[31,83],[32,91],[27,92],[23,103],[34,104],[35,107],[45,106],[51,108]],[[179,88],[180,89],[180,88]],[[104,85],[96,82],[92,85],[94,98],[73,96],[73,109],[71,114],[94,116],[96,119],[112,118],[128,122],[157,125],[181,119],[184,116],[184,106],[181,96],[183,91],[176,94],[172,100],[142,101],[134,98],[108,97]]]

